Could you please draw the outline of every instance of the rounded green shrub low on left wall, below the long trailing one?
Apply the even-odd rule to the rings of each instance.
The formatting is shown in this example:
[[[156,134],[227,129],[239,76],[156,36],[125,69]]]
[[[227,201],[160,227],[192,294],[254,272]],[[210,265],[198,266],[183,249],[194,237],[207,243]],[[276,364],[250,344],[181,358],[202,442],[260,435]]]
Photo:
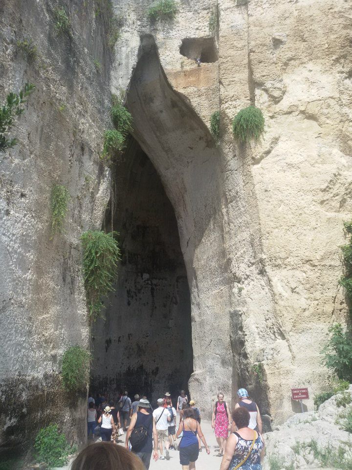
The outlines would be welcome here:
[[[84,391],[89,379],[89,352],[80,346],[71,346],[63,354],[61,375],[69,392]]]

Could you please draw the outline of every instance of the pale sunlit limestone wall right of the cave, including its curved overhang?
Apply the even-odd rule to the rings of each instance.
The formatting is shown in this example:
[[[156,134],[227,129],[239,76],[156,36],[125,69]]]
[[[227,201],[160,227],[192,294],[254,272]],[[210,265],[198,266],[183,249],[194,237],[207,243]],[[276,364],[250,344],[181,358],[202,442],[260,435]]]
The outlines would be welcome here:
[[[174,22],[151,25],[148,6],[116,3],[129,16],[111,87],[130,86],[134,135],[177,214],[192,299],[190,390],[207,412],[219,390],[235,399],[247,386],[281,421],[292,413],[291,387],[313,395],[324,386],[319,352],[329,325],[346,316],[338,246],[351,213],[348,7],[184,1]],[[187,38],[208,47],[217,10],[219,60],[198,67],[180,47]],[[259,144],[239,146],[231,121],[249,104],[262,109],[266,132]],[[219,108],[216,148],[201,126]],[[252,369],[259,362],[262,383]]]

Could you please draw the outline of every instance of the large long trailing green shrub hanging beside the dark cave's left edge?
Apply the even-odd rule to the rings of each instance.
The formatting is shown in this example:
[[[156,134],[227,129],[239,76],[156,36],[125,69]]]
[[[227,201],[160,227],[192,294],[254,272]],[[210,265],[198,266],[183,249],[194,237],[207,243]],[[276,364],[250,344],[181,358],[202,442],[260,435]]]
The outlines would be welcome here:
[[[83,274],[91,321],[96,320],[102,308],[101,297],[113,290],[112,283],[121,259],[115,235],[118,234],[98,230],[88,230],[81,235]]]

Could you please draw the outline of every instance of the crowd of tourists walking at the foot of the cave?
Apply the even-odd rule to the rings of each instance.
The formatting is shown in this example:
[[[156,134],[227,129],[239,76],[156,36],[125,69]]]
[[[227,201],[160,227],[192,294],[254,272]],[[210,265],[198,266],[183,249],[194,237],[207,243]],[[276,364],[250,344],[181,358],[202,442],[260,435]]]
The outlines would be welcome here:
[[[213,406],[212,428],[219,445],[218,456],[222,457],[220,470],[261,470],[264,454],[261,414],[246,389],[239,389],[237,394],[239,401],[232,414],[222,393]],[[72,470],[95,470],[92,455],[95,459],[99,453],[97,469],[148,470],[152,456],[155,461],[169,460],[170,450],[179,451],[182,470],[194,470],[202,451],[201,443],[210,454],[200,426],[200,411],[194,400],[188,400],[184,390],[180,391],[176,408],[166,392],[157,400],[154,410],[147,397],[135,395],[132,402],[127,391],[110,401],[102,394],[96,399],[89,395],[87,422],[88,438],[90,434],[95,438],[99,432],[103,442],[84,449]],[[125,448],[110,445],[125,433]],[[177,439],[180,439],[178,443]],[[109,465],[102,466],[104,459]]]

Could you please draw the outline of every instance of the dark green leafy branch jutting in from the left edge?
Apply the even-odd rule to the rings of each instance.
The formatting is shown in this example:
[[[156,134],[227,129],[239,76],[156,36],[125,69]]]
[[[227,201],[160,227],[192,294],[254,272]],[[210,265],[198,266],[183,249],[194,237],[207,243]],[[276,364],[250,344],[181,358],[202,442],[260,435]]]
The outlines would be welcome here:
[[[35,86],[32,83],[26,83],[19,94],[9,93],[6,97],[6,103],[0,107],[0,152],[5,152],[8,148],[13,148],[18,141],[15,137],[8,139],[8,135],[15,123],[15,118],[21,116],[24,112],[22,104],[29,96]]]

